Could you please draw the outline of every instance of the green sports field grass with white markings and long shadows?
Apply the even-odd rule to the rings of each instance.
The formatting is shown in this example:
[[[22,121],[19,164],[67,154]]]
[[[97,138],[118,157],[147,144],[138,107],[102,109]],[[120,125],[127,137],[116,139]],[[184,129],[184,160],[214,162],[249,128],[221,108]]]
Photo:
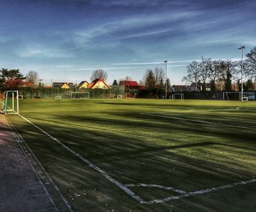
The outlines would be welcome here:
[[[74,211],[256,210],[256,102],[23,99],[20,115],[53,136],[8,116]]]

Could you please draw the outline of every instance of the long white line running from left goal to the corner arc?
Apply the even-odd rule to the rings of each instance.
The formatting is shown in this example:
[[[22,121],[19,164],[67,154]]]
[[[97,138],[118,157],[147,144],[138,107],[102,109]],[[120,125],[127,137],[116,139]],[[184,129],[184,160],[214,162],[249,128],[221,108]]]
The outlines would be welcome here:
[[[129,196],[131,196],[133,199],[137,200],[138,202],[140,202],[140,204],[145,203],[144,200],[142,200],[138,195],[136,195],[134,192],[132,192],[130,189],[128,189],[126,186],[124,186],[122,183],[119,183],[118,181],[116,181],[116,179],[110,177],[110,175],[108,175],[108,173],[105,173],[105,171],[101,170],[99,167],[97,167],[97,165],[93,164],[92,162],[90,162],[88,159],[85,159],[83,156],[81,156],[80,154],[78,154],[77,152],[73,151],[71,148],[69,148],[67,145],[65,145],[64,143],[61,143],[61,141],[59,141],[56,137],[53,137],[52,135],[50,135],[48,132],[46,132],[45,130],[43,130],[42,128],[40,128],[39,126],[35,125],[34,123],[32,123],[31,121],[29,121],[28,119],[26,119],[25,117],[21,116],[20,114],[18,114],[18,116],[20,116],[21,118],[23,118],[25,121],[29,122],[29,124],[33,125],[34,127],[36,127],[37,129],[39,129],[39,131],[41,131],[42,133],[44,133],[45,135],[47,135],[48,137],[50,137],[52,140],[56,141],[56,143],[59,143],[59,145],[61,145],[62,147],[64,147],[67,151],[71,152],[72,154],[74,154],[75,156],[77,156],[79,159],[81,159],[83,162],[85,162],[86,164],[88,164],[91,168],[93,168],[94,170],[96,170],[98,173],[100,173],[101,175],[103,175],[105,178],[107,178],[110,182],[114,183],[116,186],[118,186],[120,189],[122,189],[124,192],[126,192]]]

